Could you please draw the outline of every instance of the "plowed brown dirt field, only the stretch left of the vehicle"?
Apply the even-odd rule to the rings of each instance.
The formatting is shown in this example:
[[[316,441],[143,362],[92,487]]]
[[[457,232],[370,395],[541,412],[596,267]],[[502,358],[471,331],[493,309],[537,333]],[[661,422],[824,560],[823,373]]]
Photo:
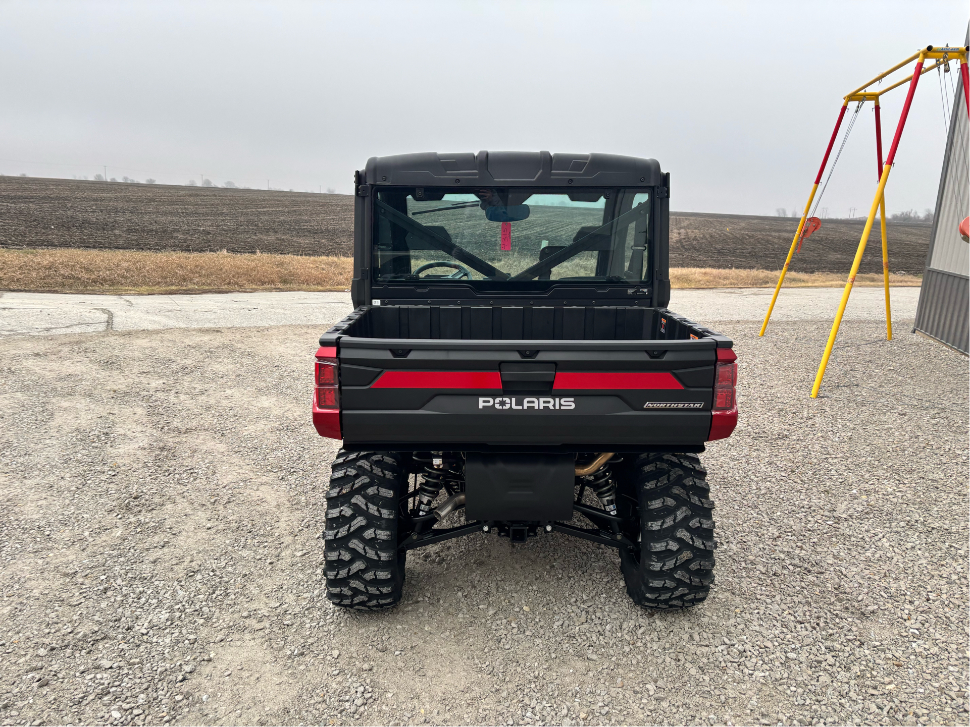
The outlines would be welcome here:
[[[0,246],[350,255],[350,195],[0,176]]]

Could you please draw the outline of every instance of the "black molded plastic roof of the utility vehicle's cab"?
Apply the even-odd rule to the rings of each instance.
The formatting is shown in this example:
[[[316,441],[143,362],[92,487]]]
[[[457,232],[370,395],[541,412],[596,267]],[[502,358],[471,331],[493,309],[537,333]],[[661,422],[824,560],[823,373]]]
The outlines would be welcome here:
[[[656,159],[619,154],[479,151],[375,156],[362,182],[420,186],[638,187],[663,184]]]

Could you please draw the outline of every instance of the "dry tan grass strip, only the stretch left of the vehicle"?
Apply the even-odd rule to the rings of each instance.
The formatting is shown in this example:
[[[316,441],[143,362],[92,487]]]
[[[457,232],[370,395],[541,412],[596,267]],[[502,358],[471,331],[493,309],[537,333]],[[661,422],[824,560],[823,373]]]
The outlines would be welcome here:
[[[0,249],[0,289],[57,293],[344,290],[350,258]]]

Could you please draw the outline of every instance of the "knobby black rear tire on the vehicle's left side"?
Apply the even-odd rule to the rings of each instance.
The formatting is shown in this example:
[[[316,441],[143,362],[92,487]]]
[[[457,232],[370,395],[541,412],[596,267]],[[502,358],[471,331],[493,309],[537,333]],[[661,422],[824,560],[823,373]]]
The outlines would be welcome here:
[[[364,611],[401,601],[406,553],[398,551],[402,458],[393,452],[346,452],[334,459],[324,530],[327,597]]]

